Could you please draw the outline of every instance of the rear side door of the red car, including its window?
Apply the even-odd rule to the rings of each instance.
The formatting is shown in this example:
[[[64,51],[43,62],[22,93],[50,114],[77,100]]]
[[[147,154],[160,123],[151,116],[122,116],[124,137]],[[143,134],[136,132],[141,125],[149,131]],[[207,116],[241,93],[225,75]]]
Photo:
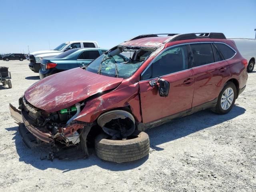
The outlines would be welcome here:
[[[211,43],[190,44],[194,67],[195,90],[192,107],[218,98],[230,75],[228,62]]]

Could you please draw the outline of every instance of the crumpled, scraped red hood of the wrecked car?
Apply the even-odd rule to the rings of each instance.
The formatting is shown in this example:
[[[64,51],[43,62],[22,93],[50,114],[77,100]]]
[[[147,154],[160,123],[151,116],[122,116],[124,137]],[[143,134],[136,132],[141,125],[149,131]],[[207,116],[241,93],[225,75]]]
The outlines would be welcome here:
[[[96,93],[114,89],[122,80],[74,68],[36,82],[26,90],[24,96],[33,106],[55,112]]]

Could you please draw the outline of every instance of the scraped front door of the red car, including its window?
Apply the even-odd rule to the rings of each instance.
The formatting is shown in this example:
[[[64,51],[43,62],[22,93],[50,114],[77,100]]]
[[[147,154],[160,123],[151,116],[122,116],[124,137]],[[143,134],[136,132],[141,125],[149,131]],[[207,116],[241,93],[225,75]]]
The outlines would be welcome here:
[[[144,123],[154,124],[162,121],[161,118],[191,109],[194,74],[187,53],[186,45],[167,48],[142,73],[139,86]],[[170,84],[166,97],[159,95],[157,85],[150,85],[158,77]]]

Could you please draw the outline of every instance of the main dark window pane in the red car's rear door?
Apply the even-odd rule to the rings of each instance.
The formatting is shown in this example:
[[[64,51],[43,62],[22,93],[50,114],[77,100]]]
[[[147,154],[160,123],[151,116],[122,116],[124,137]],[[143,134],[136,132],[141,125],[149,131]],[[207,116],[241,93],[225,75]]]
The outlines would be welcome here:
[[[210,43],[190,44],[190,46],[195,67],[214,63],[212,45]]]

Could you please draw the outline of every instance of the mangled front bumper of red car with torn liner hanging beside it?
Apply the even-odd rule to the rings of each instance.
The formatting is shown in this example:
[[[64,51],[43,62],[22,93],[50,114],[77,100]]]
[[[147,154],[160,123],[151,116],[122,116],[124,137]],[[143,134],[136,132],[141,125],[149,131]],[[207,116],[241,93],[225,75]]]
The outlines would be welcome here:
[[[19,131],[22,130],[20,131],[20,134],[28,147],[31,148],[31,146],[36,146],[29,142],[31,136],[34,136],[37,141],[40,140],[50,144],[54,144],[55,140],[60,141],[62,144],[66,144],[66,146],[74,146],[74,144],[79,143],[80,148],[84,152],[83,156],[89,156],[86,141],[88,133],[90,132],[90,129],[93,125],[92,123],[72,120],[67,126],[60,129],[62,132],[57,132],[53,135],[47,128],[33,125],[34,120],[30,118],[25,110],[18,110],[12,106],[12,104],[9,105],[9,109],[12,118],[14,118],[14,120],[16,120],[19,124]],[[77,133],[77,131],[79,134],[74,134],[75,132]],[[30,138],[27,138],[28,136]]]

